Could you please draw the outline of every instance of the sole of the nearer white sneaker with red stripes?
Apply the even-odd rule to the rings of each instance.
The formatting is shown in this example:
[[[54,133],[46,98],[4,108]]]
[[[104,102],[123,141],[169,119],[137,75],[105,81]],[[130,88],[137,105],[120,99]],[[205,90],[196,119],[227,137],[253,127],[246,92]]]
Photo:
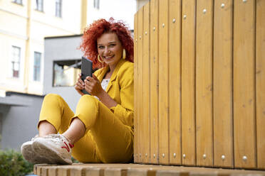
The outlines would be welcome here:
[[[63,164],[71,165],[72,160],[68,158],[63,158],[60,153],[53,150],[53,148],[41,143],[41,141],[33,141],[33,150],[44,158],[48,158],[48,164]]]

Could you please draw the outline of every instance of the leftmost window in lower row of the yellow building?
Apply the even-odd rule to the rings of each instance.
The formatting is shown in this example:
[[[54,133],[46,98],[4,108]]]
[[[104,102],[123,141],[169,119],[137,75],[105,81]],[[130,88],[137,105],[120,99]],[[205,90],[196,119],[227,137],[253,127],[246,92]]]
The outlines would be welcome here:
[[[16,46],[12,46],[12,57],[11,57],[11,70],[12,77],[19,77],[21,49]]]

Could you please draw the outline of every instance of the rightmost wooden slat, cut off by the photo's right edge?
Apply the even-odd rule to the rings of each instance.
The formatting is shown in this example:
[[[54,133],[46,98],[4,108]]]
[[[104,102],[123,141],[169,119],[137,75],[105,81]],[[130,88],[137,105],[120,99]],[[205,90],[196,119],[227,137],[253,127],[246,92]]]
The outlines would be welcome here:
[[[265,1],[256,1],[256,140],[257,165],[265,169]]]

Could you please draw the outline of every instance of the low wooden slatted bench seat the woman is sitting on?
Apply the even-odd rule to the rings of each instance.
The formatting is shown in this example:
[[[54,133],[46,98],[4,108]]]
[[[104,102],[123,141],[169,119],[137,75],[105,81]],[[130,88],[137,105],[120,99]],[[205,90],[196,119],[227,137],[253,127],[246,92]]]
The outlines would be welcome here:
[[[232,170],[138,164],[34,165],[38,176],[265,176],[261,170]]]

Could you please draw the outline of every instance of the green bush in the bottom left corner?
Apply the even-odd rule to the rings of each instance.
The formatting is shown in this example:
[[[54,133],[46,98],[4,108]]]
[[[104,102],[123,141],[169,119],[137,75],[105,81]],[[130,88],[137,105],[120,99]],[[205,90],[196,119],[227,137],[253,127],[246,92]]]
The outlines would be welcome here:
[[[0,175],[22,176],[33,171],[33,164],[28,163],[21,153],[15,150],[0,150]]]

